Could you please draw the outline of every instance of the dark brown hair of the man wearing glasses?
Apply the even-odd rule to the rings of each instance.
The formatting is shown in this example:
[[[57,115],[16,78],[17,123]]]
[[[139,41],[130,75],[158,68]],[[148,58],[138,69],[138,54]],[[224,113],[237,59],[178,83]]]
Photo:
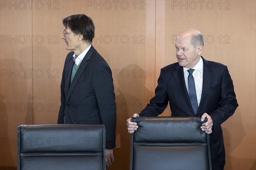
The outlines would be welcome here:
[[[62,19],[65,28],[70,28],[76,35],[83,35],[83,41],[92,42],[94,37],[94,24],[85,14],[76,14]]]

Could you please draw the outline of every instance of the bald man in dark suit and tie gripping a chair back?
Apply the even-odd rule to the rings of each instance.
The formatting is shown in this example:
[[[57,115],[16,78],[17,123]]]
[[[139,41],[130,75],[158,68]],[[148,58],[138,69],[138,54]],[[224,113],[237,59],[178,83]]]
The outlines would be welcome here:
[[[205,60],[201,54],[204,37],[196,29],[186,29],[175,41],[177,63],[161,69],[155,96],[137,116],[158,116],[168,102],[172,116],[205,118],[201,130],[210,136],[210,153],[213,170],[224,170],[225,149],[221,124],[238,107],[233,81],[227,66]],[[138,127],[127,120],[128,133]],[[171,153],[170,153],[171,154]],[[200,160],[198,160],[200,163]]]

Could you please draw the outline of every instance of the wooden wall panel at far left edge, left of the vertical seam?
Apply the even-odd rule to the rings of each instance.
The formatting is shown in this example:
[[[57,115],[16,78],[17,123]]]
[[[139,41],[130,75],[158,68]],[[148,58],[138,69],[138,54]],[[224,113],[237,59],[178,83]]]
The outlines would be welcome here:
[[[17,164],[17,126],[32,122],[32,11],[0,6],[0,169]],[[31,73],[31,74],[30,74]]]

